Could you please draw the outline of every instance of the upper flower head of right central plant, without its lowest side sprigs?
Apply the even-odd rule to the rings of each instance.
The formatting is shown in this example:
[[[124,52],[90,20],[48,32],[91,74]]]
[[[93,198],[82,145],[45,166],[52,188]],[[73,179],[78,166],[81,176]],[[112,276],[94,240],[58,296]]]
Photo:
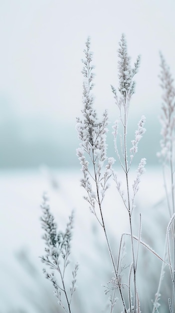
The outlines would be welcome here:
[[[114,94],[114,98],[116,100],[116,104],[119,107],[119,117],[120,120],[117,120],[113,126],[113,135],[114,135],[114,145],[115,151],[120,161],[120,164],[125,172],[128,172],[135,153],[138,151],[138,143],[141,140],[143,134],[146,129],[144,128],[144,124],[146,121],[146,117],[143,115],[141,120],[138,123],[138,129],[135,132],[135,139],[132,140],[132,147],[130,148],[130,162],[128,163],[128,153],[127,153],[127,123],[128,123],[128,109],[131,100],[131,96],[134,93],[135,81],[133,81],[134,75],[138,72],[138,68],[140,66],[140,56],[138,56],[136,62],[134,63],[134,68],[131,68],[130,64],[130,56],[128,55],[127,50],[127,42],[125,39],[125,35],[122,35],[121,41],[119,42],[120,48],[118,50],[118,68],[119,68],[119,92],[121,93],[121,97],[118,98],[117,90],[112,87],[112,92]],[[119,124],[123,126],[123,135],[119,133]],[[117,135],[119,133],[120,136],[120,148],[118,148],[117,144]],[[122,156],[122,157],[121,157]],[[122,159],[124,162],[122,162]]]

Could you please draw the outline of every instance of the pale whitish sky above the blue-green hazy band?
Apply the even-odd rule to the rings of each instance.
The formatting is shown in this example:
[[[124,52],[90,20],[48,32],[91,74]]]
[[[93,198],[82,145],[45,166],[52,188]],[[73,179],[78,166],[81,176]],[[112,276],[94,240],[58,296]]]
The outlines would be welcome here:
[[[142,56],[131,119],[142,114],[157,118],[159,50],[175,77],[174,0],[0,0],[2,123],[9,116],[22,118],[24,124],[26,118],[49,120],[58,132],[75,124],[82,108],[81,58],[88,35],[96,66],[95,106],[100,112],[107,108],[115,120],[110,84],[117,87],[122,32],[132,61]],[[24,133],[30,137],[30,131],[32,127]]]

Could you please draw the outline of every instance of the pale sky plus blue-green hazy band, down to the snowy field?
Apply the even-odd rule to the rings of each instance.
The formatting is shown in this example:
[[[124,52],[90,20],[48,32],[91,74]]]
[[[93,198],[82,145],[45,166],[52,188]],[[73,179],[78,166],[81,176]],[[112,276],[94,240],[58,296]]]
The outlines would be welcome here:
[[[146,115],[140,152],[156,164],[162,103],[159,51],[175,76],[174,12],[171,0],[166,5],[158,0],[110,0],[100,5],[97,0],[1,1],[0,168],[77,164],[75,123],[81,116],[81,59],[88,35],[96,74],[94,105],[99,113],[108,109],[111,132],[118,115],[110,84],[117,87],[117,49],[123,32],[132,63],[141,54],[129,140]],[[110,156],[113,142],[108,148]]]

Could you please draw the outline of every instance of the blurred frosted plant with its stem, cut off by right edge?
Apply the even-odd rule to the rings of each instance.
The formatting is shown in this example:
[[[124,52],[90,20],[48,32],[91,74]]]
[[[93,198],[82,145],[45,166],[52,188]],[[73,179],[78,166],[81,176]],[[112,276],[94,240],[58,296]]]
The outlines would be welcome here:
[[[162,54],[161,57],[161,87],[163,89],[162,95],[162,114],[160,116],[161,129],[161,151],[158,157],[162,162],[164,186],[166,191],[167,205],[169,210],[170,222],[167,228],[167,254],[170,264],[170,272],[173,282],[172,298],[169,298],[170,312],[175,313],[175,87],[174,79]],[[171,231],[171,237],[170,237]],[[172,253],[171,253],[172,251]],[[155,298],[153,313],[159,304],[161,280],[164,274],[164,264],[162,265],[162,272],[158,292]]]

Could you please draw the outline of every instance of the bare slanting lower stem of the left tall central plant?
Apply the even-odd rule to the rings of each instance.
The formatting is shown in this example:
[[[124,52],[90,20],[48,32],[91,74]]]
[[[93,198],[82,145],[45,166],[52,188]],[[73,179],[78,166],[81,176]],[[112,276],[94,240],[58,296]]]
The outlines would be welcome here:
[[[97,199],[98,199],[98,204],[99,204],[99,209],[100,209],[100,215],[101,215],[101,218],[102,218],[102,227],[103,227],[103,230],[104,230],[104,233],[105,233],[105,238],[106,238],[109,254],[110,254],[110,257],[111,257],[112,265],[113,265],[113,268],[114,268],[115,276],[116,276],[117,281],[119,282],[118,273],[117,273],[117,270],[116,270],[114,257],[113,257],[112,250],[111,250],[111,247],[110,247],[110,243],[109,243],[109,240],[108,240],[106,227],[105,227],[105,223],[104,223],[104,218],[103,218],[103,213],[102,213],[102,207],[101,207],[101,202],[100,202],[100,197],[99,197],[97,173],[96,173],[96,169],[95,169],[94,150],[93,149],[92,149],[92,153],[93,153],[93,167],[94,167],[95,183],[96,183],[96,190],[97,190]],[[120,292],[120,295],[121,295],[121,298],[122,298],[122,302],[123,302],[125,313],[127,313],[127,308],[126,308],[125,300],[124,300],[124,297],[123,297],[122,289],[121,289],[121,286],[120,286],[120,282],[119,282],[119,292]]]

